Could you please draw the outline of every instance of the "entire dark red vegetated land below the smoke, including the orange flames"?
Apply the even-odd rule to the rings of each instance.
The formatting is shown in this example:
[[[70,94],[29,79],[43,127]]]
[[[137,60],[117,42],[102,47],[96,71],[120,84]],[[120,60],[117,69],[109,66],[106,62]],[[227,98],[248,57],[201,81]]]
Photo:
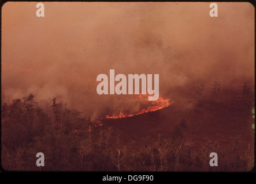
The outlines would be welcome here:
[[[120,110],[98,120],[68,109],[60,98],[44,108],[32,94],[13,99],[1,106],[2,166],[10,171],[215,171],[205,160],[216,151],[222,158],[218,171],[250,170],[254,133],[247,112],[254,106],[253,85],[195,90],[190,110],[176,97],[173,104],[169,98],[148,102],[138,95],[139,112]],[[34,164],[38,150],[49,163],[42,168]]]

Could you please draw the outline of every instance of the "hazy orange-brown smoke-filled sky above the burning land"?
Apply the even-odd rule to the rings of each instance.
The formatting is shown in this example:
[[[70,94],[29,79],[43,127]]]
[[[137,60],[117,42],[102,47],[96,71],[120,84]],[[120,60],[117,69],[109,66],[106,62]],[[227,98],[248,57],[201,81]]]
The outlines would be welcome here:
[[[36,3],[2,7],[2,102],[33,93],[88,114],[134,108],[131,95],[97,94],[110,69],[159,74],[164,98],[195,81],[254,78],[250,3],[217,2],[218,17],[209,2],[43,2],[45,17]]]

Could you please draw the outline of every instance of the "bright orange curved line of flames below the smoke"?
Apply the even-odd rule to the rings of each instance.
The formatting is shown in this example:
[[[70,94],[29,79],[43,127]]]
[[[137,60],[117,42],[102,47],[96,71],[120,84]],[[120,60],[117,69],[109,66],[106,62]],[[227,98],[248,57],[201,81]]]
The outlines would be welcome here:
[[[139,98],[140,98],[140,101],[143,101],[144,98],[142,95],[139,95]],[[159,97],[157,101],[154,101],[153,102],[153,106],[150,106],[148,108],[144,108],[142,110],[140,110],[140,112],[137,112],[137,113],[122,113],[120,112],[120,114],[118,115],[106,115],[106,119],[117,119],[117,118],[124,118],[124,117],[131,117],[131,116],[136,116],[136,115],[139,115],[139,114],[144,114],[144,113],[148,113],[148,112],[153,112],[155,110],[159,110],[159,109],[162,109],[162,108],[166,108],[168,107],[170,104],[172,104],[173,101],[170,101],[170,99],[164,99],[162,97]]]

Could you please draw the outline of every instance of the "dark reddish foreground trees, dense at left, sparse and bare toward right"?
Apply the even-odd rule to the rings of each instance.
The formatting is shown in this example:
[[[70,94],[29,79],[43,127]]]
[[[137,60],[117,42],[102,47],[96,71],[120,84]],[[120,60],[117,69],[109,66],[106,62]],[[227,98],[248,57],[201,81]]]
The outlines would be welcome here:
[[[90,120],[56,98],[46,108],[32,94],[14,99],[2,104],[1,118],[1,163],[10,171],[248,171],[254,166],[250,145],[239,152],[239,145],[231,144],[218,151],[219,166],[210,167],[209,154],[217,144],[196,149],[183,135],[184,119],[169,137],[159,134],[138,148],[136,140],[124,142],[114,127],[103,124],[88,132]],[[38,152],[44,154],[44,167],[36,166]]]

